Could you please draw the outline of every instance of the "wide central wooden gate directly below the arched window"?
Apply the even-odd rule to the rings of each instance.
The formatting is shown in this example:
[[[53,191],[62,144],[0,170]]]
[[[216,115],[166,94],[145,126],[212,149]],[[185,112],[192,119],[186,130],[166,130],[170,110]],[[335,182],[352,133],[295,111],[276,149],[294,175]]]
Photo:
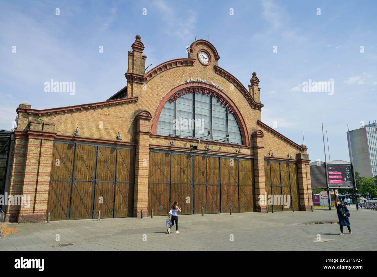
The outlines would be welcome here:
[[[254,211],[254,195],[253,159],[150,150],[149,215],[167,215],[175,200],[181,214]]]

